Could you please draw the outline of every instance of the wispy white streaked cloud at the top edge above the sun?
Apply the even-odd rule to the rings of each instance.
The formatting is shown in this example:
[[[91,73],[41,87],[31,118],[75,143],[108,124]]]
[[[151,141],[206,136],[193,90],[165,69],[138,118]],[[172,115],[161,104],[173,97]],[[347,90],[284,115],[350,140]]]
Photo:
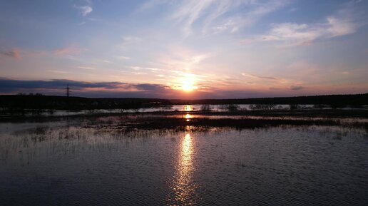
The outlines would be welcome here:
[[[276,11],[290,3],[290,0],[153,0],[143,4],[144,11],[163,4],[172,6],[173,14],[169,20],[181,26],[184,36],[193,34],[194,25],[200,27],[203,34],[229,31],[237,32],[243,26],[250,26],[262,16]]]

